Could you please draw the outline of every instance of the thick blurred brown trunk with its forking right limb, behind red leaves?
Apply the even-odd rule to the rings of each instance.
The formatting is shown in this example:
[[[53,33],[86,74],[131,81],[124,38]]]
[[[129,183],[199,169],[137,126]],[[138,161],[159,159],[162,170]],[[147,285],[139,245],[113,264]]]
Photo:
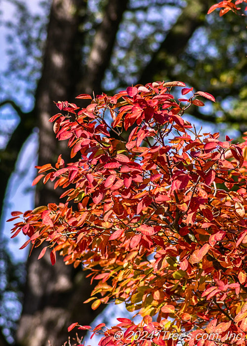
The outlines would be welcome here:
[[[109,63],[122,14],[127,0],[109,0],[104,20],[95,35],[94,54],[89,56],[93,82],[87,92],[101,91],[101,81]],[[43,69],[36,92],[34,108],[39,121],[39,166],[54,163],[62,153],[65,162],[69,160],[64,141],[55,138],[49,118],[58,112],[53,101],[73,102],[85,86],[82,80],[83,33],[80,32],[86,15],[85,0],[53,0],[47,29]],[[100,38],[100,41],[99,41]],[[102,46],[105,56],[101,54]],[[85,69],[88,73],[88,68]],[[92,76],[93,75],[93,76]],[[40,184],[36,193],[36,206],[59,203],[61,191],[53,190],[52,184]],[[92,287],[81,268],[75,270],[57,257],[51,266],[49,254],[37,260],[40,248],[33,250],[27,264],[27,283],[23,312],[17,330],[17,344],[21,346],[61,346],[68,339],[67,327],[73,322],[88,325],[100,312],[93,311],[90,303],[83,302],[90,297]],[[72,335],[71,333],[70,335]]]

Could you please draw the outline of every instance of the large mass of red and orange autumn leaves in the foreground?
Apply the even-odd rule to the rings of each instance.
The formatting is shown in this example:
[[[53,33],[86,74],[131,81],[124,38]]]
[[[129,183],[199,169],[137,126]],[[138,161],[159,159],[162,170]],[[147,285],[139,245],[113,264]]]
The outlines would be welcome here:
[[[178,100],[174,86],[183,87]],[[54,181],[67,203],[24,213],[12,237],[28,235],[24,246],[46,241],[40,258],[50,248],[52,264],[60,252],[67,264],[90,269],[99,281],[88,300],[93,309],[125,302],[143,316],[137,325],[121,320],[101,346],[127,345],[136,331],[217,331],[221,345],[228,332],[247,332],[247,142],[197,133],[182,115],[204,105],[199,96],[215,101],[181,82],[138,85],[112,97],[82,94],[91,99],[82,109],[58,102],[62,113],[50,119],[74,162],[59,156],[55,167],[39,167],[34,183]],[[189,346],[217,345],[193,336]]]

